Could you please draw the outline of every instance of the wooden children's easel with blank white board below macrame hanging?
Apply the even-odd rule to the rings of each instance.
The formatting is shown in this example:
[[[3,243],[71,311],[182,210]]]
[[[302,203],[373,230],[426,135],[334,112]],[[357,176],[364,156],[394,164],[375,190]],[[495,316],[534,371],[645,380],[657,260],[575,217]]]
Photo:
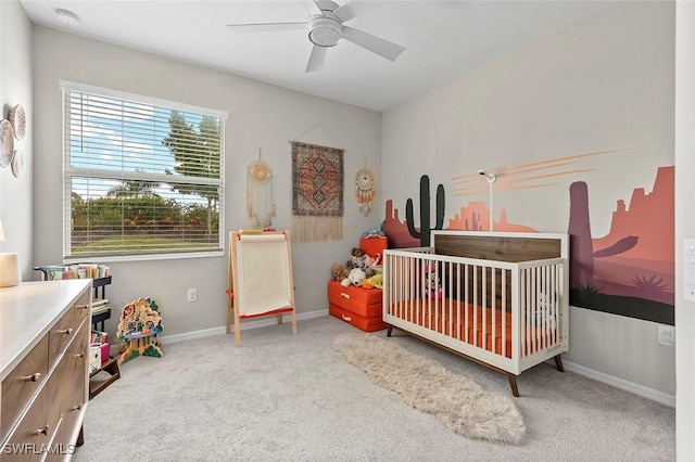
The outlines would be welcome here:
[[[296,335],[289,231],[230,232],[227,272],[227,333],[233,313],[236,346],[241,346],[242,319],[277,316],[282,324],[289,312]]]

